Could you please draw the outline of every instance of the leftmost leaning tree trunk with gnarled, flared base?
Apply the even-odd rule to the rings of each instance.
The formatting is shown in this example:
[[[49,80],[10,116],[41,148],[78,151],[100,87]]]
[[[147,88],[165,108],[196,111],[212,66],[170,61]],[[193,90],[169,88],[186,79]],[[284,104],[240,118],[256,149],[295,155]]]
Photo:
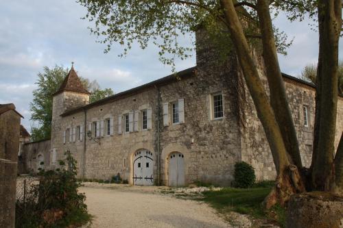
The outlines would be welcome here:
[[[276,173],[278,175],[278,183],[273,191],[274,193],[270,194],[265,205],[267,208],[271,207],[275,203],[281,203],[281,205],[283,205],[283,203],[289,199],[290,195],[303,190],[301,183],[298,181],[298,169],[289,162],[289,157],[287,156],[279,125],[276,122],[268,96],[263,88],[263,84],[257,71],[257,66],[252,58],[252,54],[235,11],[233,1],[221,0],[221,4],[224,9],[225,20],[230,31],[230,38],[235,45],[239,64],[241,65],[248,90],[252,100],[254,101],[257,116],[262,123],[265,136],[269,142],[276,167]]]

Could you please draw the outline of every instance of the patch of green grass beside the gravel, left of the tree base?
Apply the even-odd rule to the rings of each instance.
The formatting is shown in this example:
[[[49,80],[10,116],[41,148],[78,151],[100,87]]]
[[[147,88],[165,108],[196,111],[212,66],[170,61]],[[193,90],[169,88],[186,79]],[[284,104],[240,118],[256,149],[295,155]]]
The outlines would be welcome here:
[[[249,214],[254,218],[263,218],[278,223],[285,227],[285,210],[281,207],[273,207],[270,212],[262,210],[261,203],[270,192],[270,186],[259,188],[224,188],[220,191],[203,192],[204,198],[200,199],[209,203],[219,212],[238,212]]]

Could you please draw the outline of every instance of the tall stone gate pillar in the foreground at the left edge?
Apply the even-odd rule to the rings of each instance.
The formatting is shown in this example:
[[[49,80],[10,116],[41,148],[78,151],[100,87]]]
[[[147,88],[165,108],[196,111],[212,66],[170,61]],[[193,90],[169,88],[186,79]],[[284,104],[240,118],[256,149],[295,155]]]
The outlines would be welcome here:
[[[0,104],[0,227],[14,227],[21,114]]]

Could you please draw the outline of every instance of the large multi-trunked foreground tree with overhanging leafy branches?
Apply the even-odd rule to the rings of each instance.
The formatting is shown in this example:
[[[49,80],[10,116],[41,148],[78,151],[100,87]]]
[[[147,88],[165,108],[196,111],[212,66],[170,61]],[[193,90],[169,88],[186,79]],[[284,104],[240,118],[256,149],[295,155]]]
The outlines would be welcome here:
[[[102,38],[109,51],[114,42],[123,45],[123,54],[138,42],[147,47],[150,40],[159,47],[161,60],[174,64],[174,58],[187,58],[190,47],[182,47],[180,35],[202,25],[221,53],[232,47],[255,103],[276,166],[276,186],[265,199],[265,207],[283,205],[296,192],[335,190],[343,187],[343,149],[333,166],[333,144],[338,101],[338,41],[342,28],[340,0],[79,0],[88,10],[84,18],[95,23],[91,31]],[[316,87],[314,151],[309,178],[300,159],[296,129],[287,103],[285,85],[276,52],[285,53],[285,36],[273,27],[270,12],[287,12],[289,20],[309,15],[318,21],[319,56]],[[282,33],[281,33],[282,34]],[[281,38],[280,38],[281,37]],[[256,40],[259,40],[256,42]],[[255,41],[255,42],[254,42]],[[255,45],[257,43],[257,45]],[[269,99],[252,54],[261,47]],[[282,134],[281,134],[282,132]],[[343,141],[343,137],[342,140]],[[343,142],[342,142],[343,144]],[[342,146],[343,147],[343,146]],[[340,147],[340,148],[342,148]],[[333,170],[333,167],[336,167]],[[342,172],[341,172],[341,171]],[[336,173],[333,176],[333,173]],[[338,174],[340,173],[340,174]],[[305,189],[307,186],[307,189]]]

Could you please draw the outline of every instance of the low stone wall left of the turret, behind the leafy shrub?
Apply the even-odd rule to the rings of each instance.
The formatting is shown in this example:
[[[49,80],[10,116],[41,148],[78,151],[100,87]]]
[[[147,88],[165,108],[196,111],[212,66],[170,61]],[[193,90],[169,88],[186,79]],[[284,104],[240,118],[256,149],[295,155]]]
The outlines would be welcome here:
[[[23,144],[23,153],[21,155],[25,164],[23,173],[38,173],[38,168],[52,168],[50,166],[50,146],[51,140]],[[40,162],[44,162],[44,164],[40,164]]]

